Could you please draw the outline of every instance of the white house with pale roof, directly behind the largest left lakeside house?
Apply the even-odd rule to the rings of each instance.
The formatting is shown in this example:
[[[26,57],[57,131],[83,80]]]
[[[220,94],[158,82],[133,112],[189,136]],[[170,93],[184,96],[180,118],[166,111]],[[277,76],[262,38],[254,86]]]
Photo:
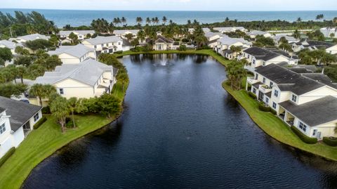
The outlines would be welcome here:
[[[60,48],[56,48],[55,51],[48,51],[48,54],[51,56],[57,55],[64,64],[77,64],[88,58],[96,60],[95,50],[83,44],[60,46]]]

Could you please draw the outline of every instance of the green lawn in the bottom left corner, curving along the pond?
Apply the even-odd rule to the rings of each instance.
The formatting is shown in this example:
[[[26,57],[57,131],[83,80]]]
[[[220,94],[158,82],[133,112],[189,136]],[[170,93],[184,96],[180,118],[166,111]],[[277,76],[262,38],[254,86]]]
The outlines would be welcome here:
[[[30,171],[56,150],[74,139],[91,133],[112,122],[99,115],[76,116],[77,128],[61,133],[52,116],[39,129],[29,133],[15,153],[0,167],[0,188],[20,188]]]

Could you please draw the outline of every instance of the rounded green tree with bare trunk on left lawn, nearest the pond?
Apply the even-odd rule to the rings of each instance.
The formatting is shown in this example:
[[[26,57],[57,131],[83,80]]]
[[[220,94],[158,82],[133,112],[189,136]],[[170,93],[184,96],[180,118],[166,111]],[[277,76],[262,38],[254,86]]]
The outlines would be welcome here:
[[[69,115],[70,108],[67,99],[61,96],[56,97],[50,104],[52,115],[58,120],[61,125],[61,132],[65,132],[65,124],[67,115]]]

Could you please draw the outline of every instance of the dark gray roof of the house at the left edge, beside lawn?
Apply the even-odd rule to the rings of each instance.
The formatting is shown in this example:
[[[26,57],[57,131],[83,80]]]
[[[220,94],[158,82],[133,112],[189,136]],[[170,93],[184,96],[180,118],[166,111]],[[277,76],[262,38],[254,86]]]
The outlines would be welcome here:
[[[27,104],[11,98],[0,96],[0,107],[6,109],[6,115],[10,115],[11,129],[17,131],[23,124],[29,121],[41,110],[41,106]],[[0,111],[1,112],[1,111]]]

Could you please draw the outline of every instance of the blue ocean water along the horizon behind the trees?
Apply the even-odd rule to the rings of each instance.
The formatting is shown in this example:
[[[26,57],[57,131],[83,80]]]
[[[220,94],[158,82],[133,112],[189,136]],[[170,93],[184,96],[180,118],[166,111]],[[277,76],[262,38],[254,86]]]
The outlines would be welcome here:
[[[1,5],[0,5],[1,6]],[[223,22],[226,17],[231,20],[239,21],[252,20],[287,20],[295,21],[298,17],[302,20],[315,20],[316,15],[324,14],[324,19],[332,20],[337,16],[337,11],[73,11],[73,10],[43,10],[43,9],[4,9],[1,12],[14,13],[14,11],[30,12],[39,11],[49,20],[53,20],[55,25],[63,27],[71,24],[72,26],[90,25],[91,20],[105,18],[112,21],[114,18],[125,17],[128,25],[136,25],[136,17],[145,18],[158,17],[164,15],[168,20],[173,20],[178,24],[185,24],[187,20],[198,20],[201,23]]]

